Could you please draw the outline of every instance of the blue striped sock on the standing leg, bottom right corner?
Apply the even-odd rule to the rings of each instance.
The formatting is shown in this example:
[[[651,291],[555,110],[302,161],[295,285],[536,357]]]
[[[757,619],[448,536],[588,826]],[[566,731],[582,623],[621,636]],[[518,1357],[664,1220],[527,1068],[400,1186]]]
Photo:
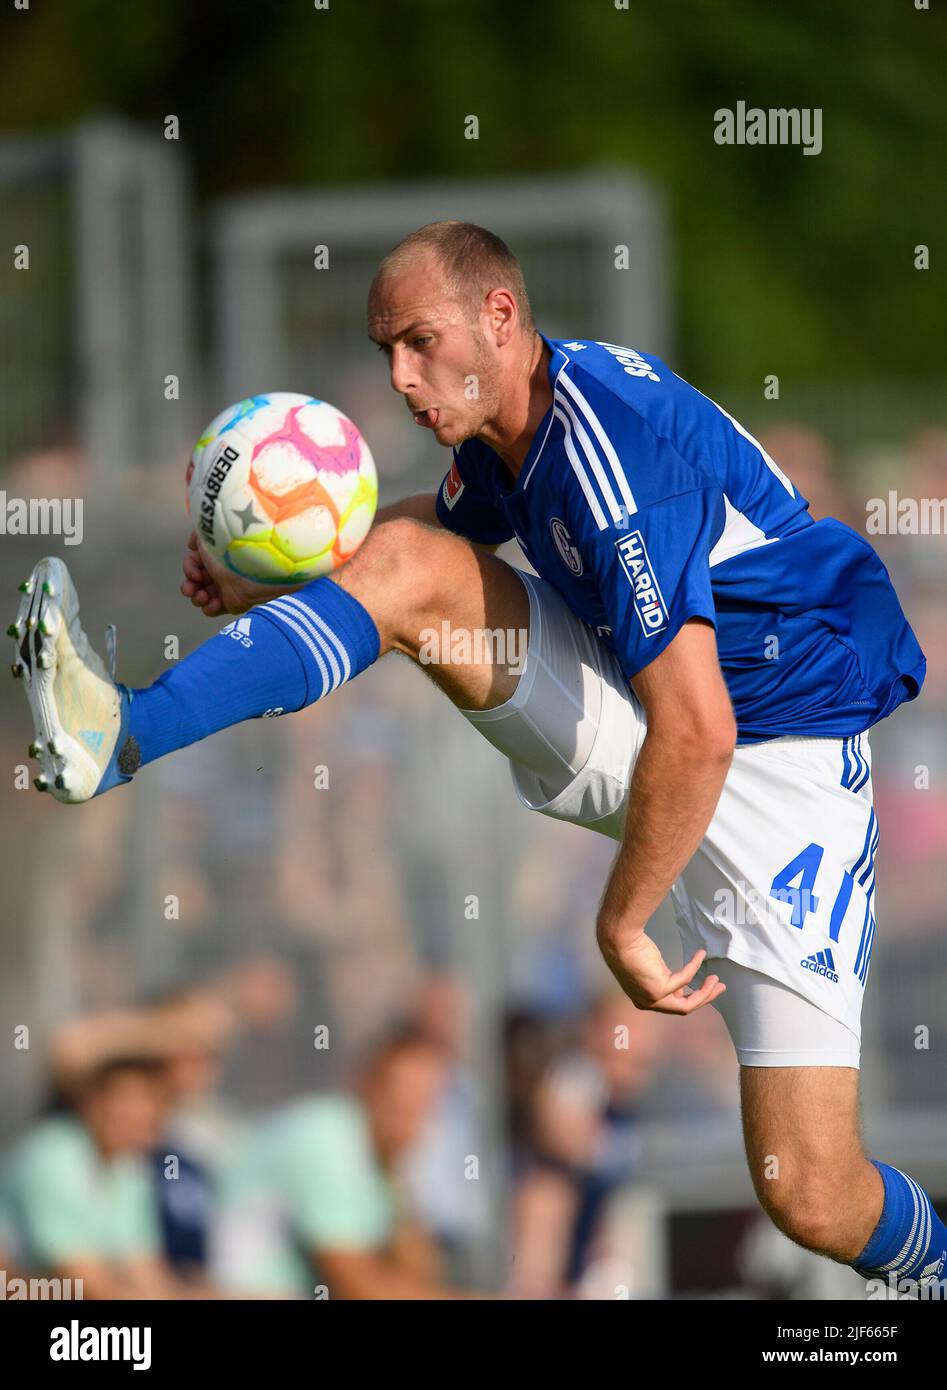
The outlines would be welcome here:
[[[921,1279],[947,1269],[947,1227],[919,1183],[898,1168],[879,1163],[884,1179],[882,1219],[851,1268],[865,1279]]]

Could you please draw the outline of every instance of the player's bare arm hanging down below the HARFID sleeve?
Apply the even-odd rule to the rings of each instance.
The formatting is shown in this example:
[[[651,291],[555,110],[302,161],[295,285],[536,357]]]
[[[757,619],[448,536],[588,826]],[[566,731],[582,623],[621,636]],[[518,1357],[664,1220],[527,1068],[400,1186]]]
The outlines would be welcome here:
[[[699,845],[736,746],[713,628],[698,619],[686,623],[631,684],[648,733],[631,778],[624,837],[599,908],[598,944],[637,1008],[693,1013],[725,986],[709,976],[699,990],[686,994],[705,952],[698,951],[681,970],[670,970],[645,927]]]

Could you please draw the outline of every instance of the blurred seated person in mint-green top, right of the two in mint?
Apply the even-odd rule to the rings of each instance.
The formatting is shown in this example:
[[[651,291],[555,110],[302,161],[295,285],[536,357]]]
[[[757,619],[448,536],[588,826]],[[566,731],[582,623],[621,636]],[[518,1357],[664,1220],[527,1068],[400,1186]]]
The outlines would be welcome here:
[[[448,1063],[431,1038],[399,1031],[352,1094],[306,1097],[254,1126],[221,1184],[220,1282],[284,1298],[463,1297],[398,1175]]]

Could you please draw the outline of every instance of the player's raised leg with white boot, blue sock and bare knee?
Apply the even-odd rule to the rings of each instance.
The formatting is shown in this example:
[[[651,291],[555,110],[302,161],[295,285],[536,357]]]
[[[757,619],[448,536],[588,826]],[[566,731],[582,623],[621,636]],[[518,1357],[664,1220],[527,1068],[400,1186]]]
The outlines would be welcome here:
[[[424,635],[502,630],[526,651],[528,596],[516,571],[467,541],[413,517],[380,521],[332,578],[316,580],[246,610],[145,689],[111,680],[79,624],[61,560],[43,560],[24,585],[11,635],[14,671],[26,687],[40,790],[82,802],[145,763],[246,719],[311,705],[378,656],[431,655]],[[517,663],[488,644],[469,659],[430,660],[431,677],[464,709],[509,699]]]

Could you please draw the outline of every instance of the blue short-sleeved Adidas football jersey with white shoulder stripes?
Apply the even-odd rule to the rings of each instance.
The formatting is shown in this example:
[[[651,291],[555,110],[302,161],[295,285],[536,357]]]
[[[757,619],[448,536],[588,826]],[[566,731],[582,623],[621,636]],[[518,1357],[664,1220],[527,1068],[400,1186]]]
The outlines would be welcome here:
[[[868,541],[815,521],[752,435],[652,354],[544,342],[553,403],[519,477],[460,445],[437,498],[448,530],[516,538],[629,678],[706,619],[741,744],[859,734],[918,695],[923,652]]]

